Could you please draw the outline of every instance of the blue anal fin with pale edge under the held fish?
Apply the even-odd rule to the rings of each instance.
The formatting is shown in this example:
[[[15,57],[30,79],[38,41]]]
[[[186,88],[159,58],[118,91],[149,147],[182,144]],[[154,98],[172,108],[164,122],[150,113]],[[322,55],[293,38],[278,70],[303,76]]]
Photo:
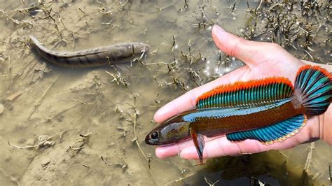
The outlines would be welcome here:
[[[298,133],[307,123],[306,115],[296,115],[277,124],[268,127],[251,129],[248,131],[237,131],[226,134],[229,141],[244,141],[246,139],[255,139],[265,145],[270,145],[278,141],[284,141],[286,138]]]

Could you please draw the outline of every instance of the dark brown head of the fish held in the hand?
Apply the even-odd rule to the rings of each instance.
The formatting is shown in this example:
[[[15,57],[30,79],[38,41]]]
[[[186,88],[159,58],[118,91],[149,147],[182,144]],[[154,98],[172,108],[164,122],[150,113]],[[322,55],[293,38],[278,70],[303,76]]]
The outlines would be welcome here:
[[[185,122],[181,117],[173,117],[148,133],[145,138],[145,143],[148,145],[177,143],[190,137],[189,125],[190,122]]]

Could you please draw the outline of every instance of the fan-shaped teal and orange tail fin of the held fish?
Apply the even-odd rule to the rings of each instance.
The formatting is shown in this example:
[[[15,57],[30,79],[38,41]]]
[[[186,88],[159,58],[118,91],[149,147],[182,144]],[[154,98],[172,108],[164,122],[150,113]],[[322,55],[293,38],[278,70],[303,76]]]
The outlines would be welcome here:
[[[331,73],[320,66],[303,66],[295,80],[294,98],[300,102],[300,109],[307,115],[321,115],[332,99]]]

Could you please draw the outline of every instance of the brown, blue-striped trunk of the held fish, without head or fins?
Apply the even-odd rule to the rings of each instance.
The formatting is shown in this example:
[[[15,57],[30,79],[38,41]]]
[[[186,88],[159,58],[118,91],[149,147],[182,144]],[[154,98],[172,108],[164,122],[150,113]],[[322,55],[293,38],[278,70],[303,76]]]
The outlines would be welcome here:
[[[282,122],[284,118],[300,114],[293,108],[291,99],[284,99],[261,106],[235,108],[206,108],[184,115],[184,121],[191,122],[200,134],[207,137],[219,136],[235,131],[246,131]]]

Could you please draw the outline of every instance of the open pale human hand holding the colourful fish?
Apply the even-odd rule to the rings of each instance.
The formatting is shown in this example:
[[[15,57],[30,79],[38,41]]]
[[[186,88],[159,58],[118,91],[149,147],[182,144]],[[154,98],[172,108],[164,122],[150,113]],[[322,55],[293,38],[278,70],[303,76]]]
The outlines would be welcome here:
[[[332,71],[332,66],[314,64],[293,57],[280,45],[247,41],[224,31],[217,25],[212,29],[212,37],[217,48],[227,55],[240,59],[247,65],[210,83],[188,91],[186,94],[167,103],[155,113],[155,122],[161,123],[174,115],[195,108],[198,96],[220,85],[271,76],[289,78],[294,83],[298,69],[306,64],[319,65],[330,72]],[[268,150],[284,150],[319,138],[332,145],[332,106],[328,107],[324,115],[310,117],[305,127],[295,136],[272,145],[263,145],[259,141],[249,139],[241,142],[230,142],[224,135],[214,138],[205,137],[203,157],[212,158],[226,155],[252,154]],[[198,159],[198,153],[192,140],[158,147],[155,149],[155,155],[159,158],[180,155],[184,159]]]

